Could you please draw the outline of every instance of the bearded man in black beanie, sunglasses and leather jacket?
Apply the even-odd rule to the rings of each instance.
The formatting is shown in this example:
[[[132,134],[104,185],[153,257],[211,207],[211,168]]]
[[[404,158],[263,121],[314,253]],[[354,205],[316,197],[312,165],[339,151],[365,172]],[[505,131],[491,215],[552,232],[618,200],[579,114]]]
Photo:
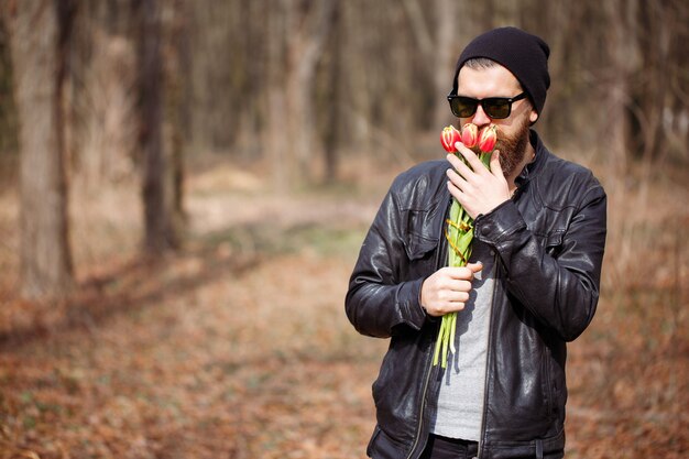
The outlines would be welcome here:
[[[391,338],[373,384],[372,458],[561,458],[566,342],[593,317],[605,194],[531,127],[549,87],[548,45],[515,28],[474,39],[448,96],[458,124],[499,129],[485,168],[461,143],[401,174],[363,242],[346,298],[363,335]],[[446,218],[474,218],[473,253],[447,267]],[[433,364],[457,312],[457,350]]]

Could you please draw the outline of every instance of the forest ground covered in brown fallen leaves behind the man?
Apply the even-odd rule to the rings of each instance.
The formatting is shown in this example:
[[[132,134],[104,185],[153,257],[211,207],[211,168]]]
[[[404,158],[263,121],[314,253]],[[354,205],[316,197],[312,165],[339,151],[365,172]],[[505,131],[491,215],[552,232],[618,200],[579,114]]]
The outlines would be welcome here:
[[[79,201],[75,293],[43,304],[18,299],[2,194],[0,459],[363,458],[387,341],[358,335],[343,297],[390,179],[278,195],[256,173],[196,171],[186,243],[157,262],[135,255],[138,193]],[[672,222],[657,273],[610,266],[569,346],[569,459],[689,453],[686,197],[630,236]],[[614,238],[609,264],[628,245]]]

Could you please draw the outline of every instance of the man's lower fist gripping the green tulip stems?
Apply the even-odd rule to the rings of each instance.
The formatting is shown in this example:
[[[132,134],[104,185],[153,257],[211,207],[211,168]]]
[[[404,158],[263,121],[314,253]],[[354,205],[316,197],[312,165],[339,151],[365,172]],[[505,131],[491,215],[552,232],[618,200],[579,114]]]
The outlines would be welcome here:
[[[429,316],[439,317],[462,310],[469,300],[473,275],[481,271],[481,263],[463,267],[442,267],[424,281],[422,306]]]

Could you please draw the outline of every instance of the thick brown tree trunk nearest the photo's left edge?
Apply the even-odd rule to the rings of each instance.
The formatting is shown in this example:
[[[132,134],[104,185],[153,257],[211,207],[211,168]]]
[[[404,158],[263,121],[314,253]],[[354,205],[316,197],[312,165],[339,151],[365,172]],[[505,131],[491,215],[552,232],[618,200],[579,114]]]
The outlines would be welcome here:
[[[24,0],[9,11],[20,119],[21,294],[56,297],[73,284],[63,80],[69,1]]]

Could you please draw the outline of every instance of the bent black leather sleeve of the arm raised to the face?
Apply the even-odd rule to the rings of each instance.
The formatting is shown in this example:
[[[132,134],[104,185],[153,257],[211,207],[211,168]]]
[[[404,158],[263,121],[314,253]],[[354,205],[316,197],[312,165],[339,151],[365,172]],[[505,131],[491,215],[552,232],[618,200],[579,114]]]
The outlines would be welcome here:
[[[475,237],[492,245],[506,272],[506,288],[564,340],[590,324],[599,298],[606,233],[606,197],[598,182],[586,188],[557,250],[529,231],[508,200],[475,221]]]

